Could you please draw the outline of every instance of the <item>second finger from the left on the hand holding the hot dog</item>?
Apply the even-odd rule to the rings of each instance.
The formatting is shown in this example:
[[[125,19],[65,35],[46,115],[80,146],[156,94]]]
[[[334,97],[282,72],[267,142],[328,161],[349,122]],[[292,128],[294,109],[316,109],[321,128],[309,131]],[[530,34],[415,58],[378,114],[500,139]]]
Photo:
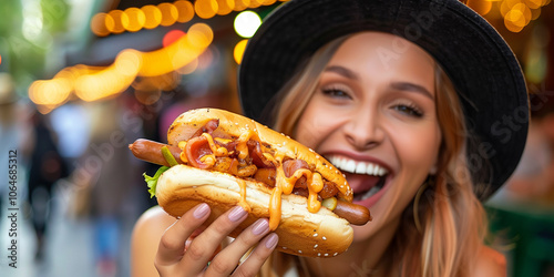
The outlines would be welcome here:
[[[197,273],[203,270],[213,253],[244,219],[248,213],[240,206],[236,206],[222,216],[217,217],[202,234],[199,234],[186,249],[183,256],[183,270]]]

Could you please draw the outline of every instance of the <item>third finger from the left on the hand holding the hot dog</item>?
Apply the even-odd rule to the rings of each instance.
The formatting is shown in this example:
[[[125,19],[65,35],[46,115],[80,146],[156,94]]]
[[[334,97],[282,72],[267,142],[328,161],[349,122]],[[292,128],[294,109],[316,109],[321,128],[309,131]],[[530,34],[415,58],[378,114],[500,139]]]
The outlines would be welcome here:
[[[269,222],[266,218],[255,222],[209,263],[206,276],[228,276],[232,274],[240,258],[267,233],[269,233]]]

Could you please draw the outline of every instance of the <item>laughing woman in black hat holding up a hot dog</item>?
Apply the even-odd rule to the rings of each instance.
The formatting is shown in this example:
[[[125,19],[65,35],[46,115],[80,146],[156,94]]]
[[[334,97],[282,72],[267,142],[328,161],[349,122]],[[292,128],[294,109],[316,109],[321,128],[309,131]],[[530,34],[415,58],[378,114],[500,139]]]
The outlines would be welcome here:
[[[250,40],[239,89],[246,115],[345,172],[373,220],[355,226],[348,252],[318,259],[273,252],[264,219],[217,253],[240,208],[188,240],[209,208],[164,234],[175,220],[157,208],[137,223],[133,266],[153,270],[155,260],[162,276],[505,276],[502,255],[483,245],[480,201],[520,160],[526,89],[502,38],[462,3],[293,0]],[[373,176],[376,166],[386,174]]]

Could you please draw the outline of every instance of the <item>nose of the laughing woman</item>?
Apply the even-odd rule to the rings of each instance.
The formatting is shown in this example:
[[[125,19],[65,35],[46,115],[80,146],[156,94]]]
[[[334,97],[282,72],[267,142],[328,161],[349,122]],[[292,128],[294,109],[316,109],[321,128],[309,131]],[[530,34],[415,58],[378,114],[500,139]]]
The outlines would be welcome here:
[[[379,114],[371,109],[352,111],[343,131],[347,142],[359,151],[373,148],[384,140]]]

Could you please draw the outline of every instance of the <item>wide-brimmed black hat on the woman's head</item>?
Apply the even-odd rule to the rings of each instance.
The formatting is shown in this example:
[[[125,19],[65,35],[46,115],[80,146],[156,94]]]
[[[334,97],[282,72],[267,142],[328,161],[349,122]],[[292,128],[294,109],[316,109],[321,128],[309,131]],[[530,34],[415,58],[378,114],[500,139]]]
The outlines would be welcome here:
[[[529,98],[512,50],[481,16],[456,0],[293,0],[249,40],[239,69],[244,112],[264,109],[295,69],[327,42],[355,32],[402,37],[429,52],[452,80],[465,123],[475,193],[486,199],[515,170],[526,140]],[[267,122],[265,122],[267,124]]]

